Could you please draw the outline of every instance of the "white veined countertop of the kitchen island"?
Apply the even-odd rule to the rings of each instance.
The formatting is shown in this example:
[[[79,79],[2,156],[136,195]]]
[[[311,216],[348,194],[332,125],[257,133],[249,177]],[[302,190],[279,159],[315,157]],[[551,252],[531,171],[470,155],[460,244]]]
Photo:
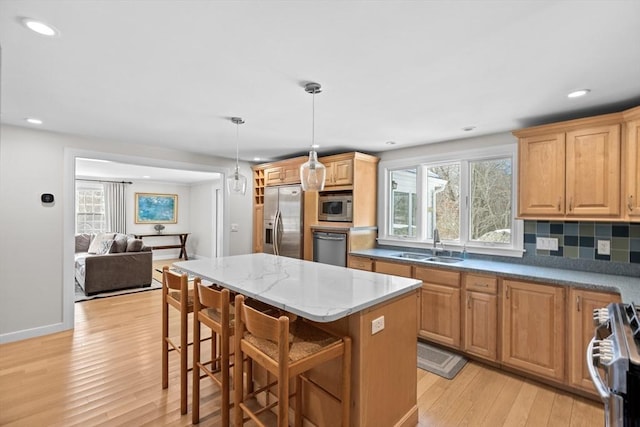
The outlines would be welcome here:
[[[331,322],[421,286],[390,276],[270,254],[174,263],[179,270],[317,322]]]

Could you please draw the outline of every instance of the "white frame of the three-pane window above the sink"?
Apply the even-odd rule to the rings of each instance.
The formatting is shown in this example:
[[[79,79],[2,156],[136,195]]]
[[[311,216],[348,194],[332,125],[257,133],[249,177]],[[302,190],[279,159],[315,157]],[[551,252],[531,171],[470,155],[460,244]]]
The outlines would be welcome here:
[[[499,242],[479,242],[471,240],[471,163],[483,160],[496,160],[509,158],[511,160],[511,235],[510,244]],[[428,167],[459,163],[460,164],[460,240],[443,240],[446,250],[461,252],[466,248],[469,253],[499,255],[510,257],[522,257],[524,253],[524,222],[516,218],[517,213],[517,144],[499,145],[480,149],[466,149],[453,152],[446,152],[421,157],[411,157],[406,159],[396,159],[380,162],[378,184],[383,190],[382,197],[378,203],[378,243],[388,246],[399,246],[407,248],[432,248],[433,239],[431,233],[426,230],[423,224],[423,215],[418,215],[416,221],[416,237],[394,236],[389,234],[390,209],[390,186],[391,172],[416,168],[416,192],[418,194],[419,209],[426,208],[426,201],[422,195],[426,183],[426,170]]]

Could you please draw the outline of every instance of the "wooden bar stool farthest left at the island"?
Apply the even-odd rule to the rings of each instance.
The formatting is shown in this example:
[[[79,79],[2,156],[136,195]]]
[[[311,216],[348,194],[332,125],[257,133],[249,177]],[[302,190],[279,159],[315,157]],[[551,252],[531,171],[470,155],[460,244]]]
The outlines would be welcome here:
[[[193,312],[193,290],[186,273],[178,274],[162,267],[162,388],[169,387],[169,352],[180,354],[180,413],[187,413],[188,315]],[[169,337],[169,307],[180,313],[180,342]]]

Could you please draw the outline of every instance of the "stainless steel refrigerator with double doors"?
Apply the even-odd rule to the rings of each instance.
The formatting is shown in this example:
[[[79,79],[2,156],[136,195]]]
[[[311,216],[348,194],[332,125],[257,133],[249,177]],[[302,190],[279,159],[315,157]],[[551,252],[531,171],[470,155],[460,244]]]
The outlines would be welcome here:
[[[264,189],[264,252],[302,258],[302,187]]]

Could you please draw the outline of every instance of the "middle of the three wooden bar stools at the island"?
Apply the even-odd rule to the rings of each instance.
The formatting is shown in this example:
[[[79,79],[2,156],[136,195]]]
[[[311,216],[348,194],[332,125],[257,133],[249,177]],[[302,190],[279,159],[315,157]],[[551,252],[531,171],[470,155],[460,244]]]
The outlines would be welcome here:
[[[222,393],[220,413],[222,425],[229,425],[230,408],[230,338],[233,336],[232,305],[228,289],[214,289],[201,284],[200,278],[194,280],[194,315],[193,315],[193,393],[191,418],[193,424],[200,422],[200,375],[211,378]],[[211,329],[211,359],[201,361],[200,328],[205,325]],[[216,341],[220,338],[220,352]]]

